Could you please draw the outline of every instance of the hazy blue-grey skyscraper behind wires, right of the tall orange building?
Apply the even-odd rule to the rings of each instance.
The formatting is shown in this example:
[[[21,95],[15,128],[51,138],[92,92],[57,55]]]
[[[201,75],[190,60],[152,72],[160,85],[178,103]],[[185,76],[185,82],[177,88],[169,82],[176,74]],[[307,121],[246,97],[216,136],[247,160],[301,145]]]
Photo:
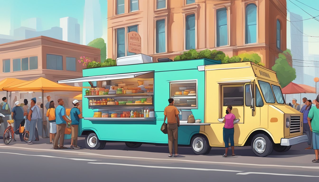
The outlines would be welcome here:
[[[302,17],[290,12],[290,37],[291,37],[291,54],[293,59],[293,68],[296,69],[296,84],[303,84],[304,64],[303,64],[303,22]]]

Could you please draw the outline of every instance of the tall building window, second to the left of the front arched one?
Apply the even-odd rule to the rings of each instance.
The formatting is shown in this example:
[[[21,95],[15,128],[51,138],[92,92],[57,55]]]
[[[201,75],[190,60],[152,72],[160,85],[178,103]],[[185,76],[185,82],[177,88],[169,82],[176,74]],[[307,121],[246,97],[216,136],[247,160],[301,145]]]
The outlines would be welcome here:
[[[186,16],[185,49],[195,49],[195,14]]]

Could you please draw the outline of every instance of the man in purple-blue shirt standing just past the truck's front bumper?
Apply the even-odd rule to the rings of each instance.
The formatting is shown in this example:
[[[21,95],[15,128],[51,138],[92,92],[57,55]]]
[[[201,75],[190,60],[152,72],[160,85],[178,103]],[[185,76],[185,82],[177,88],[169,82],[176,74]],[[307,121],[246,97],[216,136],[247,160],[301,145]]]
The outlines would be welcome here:
[[[312,149],[312,132],[308,125],[308,113],[312,106],[311,100],[307,100],[305,104],[302,106],[300,112],[303,113],[303,133],[306,133],[308,136],[308,148],[305,148],[305,150],[310,150]]]

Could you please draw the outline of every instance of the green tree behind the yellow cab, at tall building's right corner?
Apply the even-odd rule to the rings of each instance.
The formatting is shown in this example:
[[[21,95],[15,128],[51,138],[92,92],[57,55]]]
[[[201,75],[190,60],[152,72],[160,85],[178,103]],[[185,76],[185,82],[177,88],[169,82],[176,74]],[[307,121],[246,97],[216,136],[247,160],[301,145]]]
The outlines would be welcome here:
[[[287,62],[287,57],[291,57],[290,50],[287,49],[283,53],[278,54],[278,59],[275,61],[275,65],[271,67],[272,70],[276,71],[278,81],[281,87],[287,86],[296,78],[296,69],[291,67]]]

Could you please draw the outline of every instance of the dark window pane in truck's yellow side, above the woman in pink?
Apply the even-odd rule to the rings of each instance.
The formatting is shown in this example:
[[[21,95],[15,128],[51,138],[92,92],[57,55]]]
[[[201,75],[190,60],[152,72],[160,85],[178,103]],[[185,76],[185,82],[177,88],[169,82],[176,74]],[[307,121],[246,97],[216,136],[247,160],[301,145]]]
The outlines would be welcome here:
[[[243,106],[244,87],[224,87],[224,106]]]

